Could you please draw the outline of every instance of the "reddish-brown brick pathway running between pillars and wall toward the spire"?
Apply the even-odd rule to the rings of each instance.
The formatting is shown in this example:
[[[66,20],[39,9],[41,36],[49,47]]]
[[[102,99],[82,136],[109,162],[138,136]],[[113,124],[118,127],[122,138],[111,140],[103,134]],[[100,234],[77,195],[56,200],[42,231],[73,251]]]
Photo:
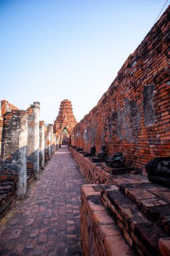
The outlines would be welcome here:
[[[68,148],[53,156],[19,210],[0,230],[0,255],[81,255],[80,187]]]

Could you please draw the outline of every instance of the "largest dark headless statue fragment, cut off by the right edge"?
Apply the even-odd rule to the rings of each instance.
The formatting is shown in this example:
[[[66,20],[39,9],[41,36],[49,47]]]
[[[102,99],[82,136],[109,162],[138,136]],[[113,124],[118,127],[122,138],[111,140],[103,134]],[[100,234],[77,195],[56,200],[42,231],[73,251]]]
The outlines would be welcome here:
[[[153,158],[145,169],[148,181],[170,187],[170,157]]]

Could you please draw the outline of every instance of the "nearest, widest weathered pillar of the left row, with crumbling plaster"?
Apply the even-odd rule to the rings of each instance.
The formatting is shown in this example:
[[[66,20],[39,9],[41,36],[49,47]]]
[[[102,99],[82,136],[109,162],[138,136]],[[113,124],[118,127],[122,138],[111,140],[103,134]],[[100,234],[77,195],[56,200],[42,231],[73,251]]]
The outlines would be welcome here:
[[[12,110],[3,116],[1,174],[15,177],[17,195],[26,193],[27,185],[28,115],[24,110]]]

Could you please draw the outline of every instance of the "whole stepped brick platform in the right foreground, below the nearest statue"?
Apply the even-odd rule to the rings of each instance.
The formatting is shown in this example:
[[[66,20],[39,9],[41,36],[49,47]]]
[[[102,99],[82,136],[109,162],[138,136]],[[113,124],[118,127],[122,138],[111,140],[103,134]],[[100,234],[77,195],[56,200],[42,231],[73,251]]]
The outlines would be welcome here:
[[[170,255],[170,189],[144,179],[122,174],[114,185],[82,187],[85,255]]]

